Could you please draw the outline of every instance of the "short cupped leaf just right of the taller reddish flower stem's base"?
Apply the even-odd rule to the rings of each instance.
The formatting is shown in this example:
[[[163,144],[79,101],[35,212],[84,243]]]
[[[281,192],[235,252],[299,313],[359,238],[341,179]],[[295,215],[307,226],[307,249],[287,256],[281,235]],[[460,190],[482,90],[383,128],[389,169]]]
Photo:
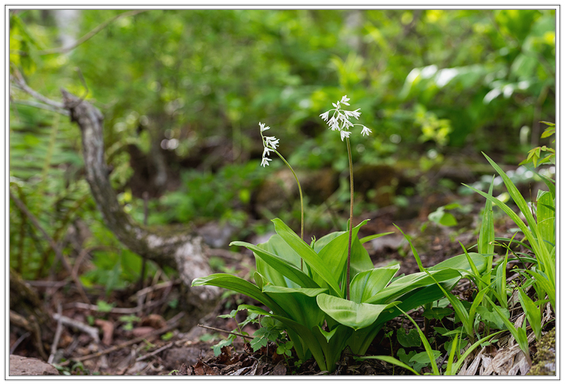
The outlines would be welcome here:
[[[396,264],[391,267],[380,267],[357,274],[351,281],[350,299],[357,303],[365,302],[385,288],[398,269],[400,269],[400,265]]]

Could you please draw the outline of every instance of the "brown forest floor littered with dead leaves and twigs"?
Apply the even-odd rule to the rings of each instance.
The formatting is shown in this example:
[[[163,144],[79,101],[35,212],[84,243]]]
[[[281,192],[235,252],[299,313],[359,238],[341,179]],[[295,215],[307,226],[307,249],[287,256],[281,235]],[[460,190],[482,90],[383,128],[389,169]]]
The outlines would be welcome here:
[[[446,228],[429,224],[425,231],[421,230],[422,221],[417,219],[396,221],[403,230],[414,235],[415,246],[420,253],[424,267],[433,266],[453,255],[463,253],[459,242],[465,247],[470,247],[477,240],[477,218],[482,204],[476,202],[468,214],[467,227]],[[378,238],[367,243],[372,261],[376,267],[390,264],[393,261],[400,263],[399,274],[411,274],[418,271],[415,258],[410,252],[410,247],[404,238],[393,227],[394,215],[390,210],[382,210],[373,214],[369,225],[364,226],[360,236],[372,233],[395,231],[394,234]],[[504,219],[496,221],[496,236],[511,238],[511,229],[515,225]],[[521,250],[524,251],[524,250]],[[254,267],[254,259],[247,250],[237,253],[229,250],[218,252],[210,251],[210,256],[219,256],[224,259],[223,271],[232,271],[239,276],[249,277],[249,271]],[[509,264],[507,271],[509,281],[515,279]],[[62,277],[64,278],[64,277]],[[220,318],[221,314],[229,314],[241,303],[254,303],[253,300],[230,293],[222,299],[215,312],[206,319],[201,319],[203,326],[195,326],[190,331],[179,329],[179,319],[190,317],[174,309],[177,300],[177,287],[179,281],[155,276],[153,283],[146,283],[143,288],[128,288],[112,293],[112,306],[104,309],[98,305],[87,305],[76,293],[73,285],[61,279],[59,282],[28,282],[35,290],[49,301],[49,310],[52,314],[59,313],[71,320],[64,324],[59,335],[57,350],[52,351],[52,362],[60,374],[75,375],[319,375],[328,374],[321,372],[314,360],[307,360],[299,366],[294,366],[295,360],[289,360],[276,353],[273,343],[254,352],[246,342],[237,338],[233,346],[221,349],[221,354],[214,355],[212,346],[228,336],[229,331],[237,329],[234,319]],[[100,288],[103,293],[103,288]],[[470,282],[462,280],[453,291],[462,299],[470,299],[472,287]],[[521,309],[518,307],[518,310]],[[237,322],[245,319],[245,312],[237,314]],[[420,327],[430,333],[432,323],[427,323],[422,317],[421,310],[410,312]],[[523,313],[523,312],[522,312]],[[516,320],[520,314],[513,313],[512,319]],[[549,319],[551,314],[545,314]],[[426,325],[424,325],[426,324]],[[554,321],[547,323],[547,327],[554,325]],[[414,326],[406,319],[396,318],[388,322],[383,330],[374,339],[367,355],[393,355],[396,357],[399,348],[396,341],[385,338],[390,330],[408,330]],[[214,328],[214,329],[209,329]],[[248,324],[244,332],[252,335],[258,329],[256,324]],[[10,335],[11,353],[23,357],[41,358],[37,348],[32,343],[32,338],[20,338],[17,329],[12,329]],[[101,338],[99,338],[99,335]],[[483,374],[484,366],[496,358],[497,353],[505,354],[505,360],[499,360],[499,367],[492,367],[494,374],[525,374],[525,363],[518,358],[517,350],[511,346],[510,333],[504,332],[499,338],[498,345],[487,346],[470,355],[465,367],[480,357],[480,365],[475,365],[476,374]],[[48,344],[47,344],[48,345]],[[515,346],[515,345],[514,345]],[[48,348],[49,346],[47,346]],[[46,348],[46,350],[47,350]],[[513,350],[512,350],[513,349]],[[536,348],[530,348],[532,355]],[[423,349],[422,349],[423,351]],[[512,351],[513,354],[508,353]],[[49,353],[49,350],[47,350]],[[505,353],[506,352],[506,353]],[[482,358],[482,361],[481,361]],[[476,361],[476,360],[475,360]],[[58,363],[57,363],[58,362]],[[505,363],[506,362],[506,363]],[[510,363],[508,363],[510,362]],[[482,366],[481,366],[482,365]],[[504,366],[506,365],[506,366]],[[441,365],[440,365],[441,366]],[[463,373],[465,373],[463,367]],[[427,368],[424,367],[423,372]],[[475,374],[468,371],[467,374]],[[377,360],[357,361],[352,355],[343,355],[338,363],[338,369],[329,373],[333,375],[408,375],[410,372],[399,367],[394,367],[386,362]]]

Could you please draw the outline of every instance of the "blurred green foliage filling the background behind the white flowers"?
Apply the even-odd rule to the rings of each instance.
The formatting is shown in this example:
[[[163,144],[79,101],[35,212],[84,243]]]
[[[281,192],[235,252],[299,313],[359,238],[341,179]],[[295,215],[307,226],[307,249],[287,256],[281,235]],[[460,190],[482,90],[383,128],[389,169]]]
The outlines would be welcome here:
[[[345,169],[344,157],[335,157],[342,143],[319,119],[343,94],[373,130],[368,140],[352,141],[362,164],[408,159],[426,169],[444,154],[480,151],[518,159],[537,145],[538,122],[555,118],[552,10],[150,10],[123,17],[126,11],[81,10],[69,22],[75,39],[107,25],[72,51],[53,53],[62,32],[55,12],[10,12],[11,69],[60,100],[60,87],[85,93],[80,68],[88,99],[105,115],[112,182],[138,221],[143,191],[132,187],[132,176],[164,159],[173,183],[153,195],[159,199],[150,202],[149,224],[243,224],[269,172],[258,167],[259,121],[276,131],[295,168]],[[56,240],[76,219],[86,221],[93,244],[116,247],[105,252],[103,269],[136,279],[124,269],[129,256],[95,225],[101,219],[81,175],[78,128],[21,104],[30,97],[19,90],[11,99],[12,190]],[[11,265],[28,278],[47,274],[41,265],[53,255],[13,203],[10,224]],[[111,274],[84,278],[116,285]]]

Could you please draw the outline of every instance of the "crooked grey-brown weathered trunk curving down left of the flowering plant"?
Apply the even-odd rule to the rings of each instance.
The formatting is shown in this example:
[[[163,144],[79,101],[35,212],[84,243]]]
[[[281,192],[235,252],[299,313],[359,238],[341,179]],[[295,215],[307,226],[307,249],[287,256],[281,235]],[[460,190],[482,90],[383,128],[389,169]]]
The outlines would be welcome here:
[[[212,274],[208,258],[203,252],[201,238],[188,227],[155,230],[137,224],[124,212],[117,193],[109,180],[105,163],[102,113],[92,104],[61,90],[64,108],[71,121],[81,129],[85,175],[90,190],[102,213],[106,226],[129,250],[160,266],[177,269],[183,281],[181,305],[191,317],[185,317],[184,328],[196,325],[198,319],[210,312],[220,291],[212,286],[191,288],[191,282]]]

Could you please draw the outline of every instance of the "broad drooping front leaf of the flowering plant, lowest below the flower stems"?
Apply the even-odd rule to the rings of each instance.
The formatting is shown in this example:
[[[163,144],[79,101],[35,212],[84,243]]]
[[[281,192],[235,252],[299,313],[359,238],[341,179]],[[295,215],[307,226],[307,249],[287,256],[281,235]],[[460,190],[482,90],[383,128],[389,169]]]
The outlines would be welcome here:
[[[396,305],[393,302],[387,305],[371,305],[357,303],[335,297],[334,295],[320,294],[316,297],[319,307],[335,321],[357,330],[373,324],[379,314],[388,307]]]

